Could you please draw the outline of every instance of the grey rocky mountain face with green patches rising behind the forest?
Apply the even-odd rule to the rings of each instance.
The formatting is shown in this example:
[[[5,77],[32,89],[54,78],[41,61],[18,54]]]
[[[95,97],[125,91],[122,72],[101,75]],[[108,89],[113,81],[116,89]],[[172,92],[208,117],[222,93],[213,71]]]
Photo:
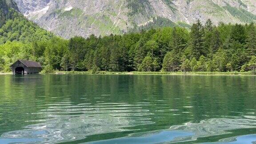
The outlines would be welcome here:
[[[256,21],[256,0],[15,0],[20,12],[64,38],[104,36],[145,25],[152,17],[191,24]]]

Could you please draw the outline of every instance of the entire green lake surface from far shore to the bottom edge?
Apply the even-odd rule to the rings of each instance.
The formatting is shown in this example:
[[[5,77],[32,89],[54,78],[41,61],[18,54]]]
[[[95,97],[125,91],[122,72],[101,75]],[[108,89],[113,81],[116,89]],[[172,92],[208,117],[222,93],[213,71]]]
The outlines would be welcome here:
[[[0,144],[256,141],[256,76],[0,76]]]

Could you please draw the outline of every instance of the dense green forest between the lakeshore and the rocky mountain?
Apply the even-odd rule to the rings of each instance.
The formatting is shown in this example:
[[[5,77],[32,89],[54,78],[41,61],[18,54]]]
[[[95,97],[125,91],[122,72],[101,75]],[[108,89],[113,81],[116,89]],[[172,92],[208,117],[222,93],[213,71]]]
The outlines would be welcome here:
[[[202,24],[64,40],[16,16],[0,28],[0,71],[18,59],[44,72],[244,72],[256,68],[256,25]]]

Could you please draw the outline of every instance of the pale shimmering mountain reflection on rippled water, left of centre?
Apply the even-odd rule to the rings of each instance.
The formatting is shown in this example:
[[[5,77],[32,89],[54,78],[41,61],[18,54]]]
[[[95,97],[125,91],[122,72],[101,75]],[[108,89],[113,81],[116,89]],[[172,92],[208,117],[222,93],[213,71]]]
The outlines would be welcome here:
[[[6,132],[1,136],[0,142],[1,139],[6,141],[16,138],[20,142],[56,143],[102,133],[131,131],[126,128],[154,124],[150,118],[143,117],[152,113],[140,106],[143,104],[72,105],[69,100],[64,100],[35,113],[42,116],[41,120],[36,120],[40,124],[28,125],[20,131]]]

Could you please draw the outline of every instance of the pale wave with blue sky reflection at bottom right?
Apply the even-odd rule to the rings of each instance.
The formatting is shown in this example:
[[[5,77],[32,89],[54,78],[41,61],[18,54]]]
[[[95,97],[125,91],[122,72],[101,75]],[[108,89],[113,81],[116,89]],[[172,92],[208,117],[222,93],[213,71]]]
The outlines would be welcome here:
[[[101,140],[90,144],[159,144],[159,143],[180,143],[192,142],[198,138],[209,136],[226,135],[230,130],[256,128],[256,120],[252,119],[209,119],[200,123],[186,123],[175,125],[167,130],[144,132],[129,135],[128,137]],[[256,135],[235,136],[221,139],[214,143],[205,144],[252,144],[256,142]]]

